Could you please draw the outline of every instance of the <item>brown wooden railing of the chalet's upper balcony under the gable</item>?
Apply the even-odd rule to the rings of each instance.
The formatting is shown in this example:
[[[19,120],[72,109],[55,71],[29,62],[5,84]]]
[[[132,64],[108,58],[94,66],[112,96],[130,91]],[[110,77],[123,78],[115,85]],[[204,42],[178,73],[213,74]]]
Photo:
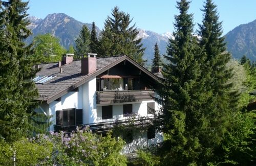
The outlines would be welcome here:
[[[154,90],[106,90],[96,91],[97,104],[142,102],[152,100]]]

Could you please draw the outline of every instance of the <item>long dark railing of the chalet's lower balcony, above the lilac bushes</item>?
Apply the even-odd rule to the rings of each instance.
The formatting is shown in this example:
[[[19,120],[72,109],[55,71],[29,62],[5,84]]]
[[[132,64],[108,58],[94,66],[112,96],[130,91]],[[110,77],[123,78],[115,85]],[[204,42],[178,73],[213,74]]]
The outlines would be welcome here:
[[[104,132],[112,129],[117,125],[122,125],[125,128],[138,128],[138,127],[146,127],[149,125],[153,125],[154,121],[161,121],[161,119],[153,116],[142,116],[136,118],[126,118],[125,120],[115,120],[109,122],[100,122],[100,123],[92,123],[92,124],[84,124],[77,125],[80,128],[89,127],[93,132],[99,131]],[[54,131],[59,132],[63,131],[66,133],[70,133],[71,131],[75,131],[77,126],[59,126],[54,125]]]

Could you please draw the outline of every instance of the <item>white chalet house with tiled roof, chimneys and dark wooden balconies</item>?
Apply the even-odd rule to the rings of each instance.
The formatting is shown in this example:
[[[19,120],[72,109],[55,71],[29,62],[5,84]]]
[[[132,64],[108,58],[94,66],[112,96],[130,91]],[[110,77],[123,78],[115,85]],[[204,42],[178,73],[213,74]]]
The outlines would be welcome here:
[[[152,87],[159,78],[130,57],[89,54],[73,60],[73,54],[66,54],[61,62],[35,68],[40,68],[34,82],[42,101],[36,111],[52,115],[50,131],[89,126],[104,134],[122,125],[127,132],[120,136],[129,145],[124,153],[163,141],[154,127],[160,106],[153,100]]]

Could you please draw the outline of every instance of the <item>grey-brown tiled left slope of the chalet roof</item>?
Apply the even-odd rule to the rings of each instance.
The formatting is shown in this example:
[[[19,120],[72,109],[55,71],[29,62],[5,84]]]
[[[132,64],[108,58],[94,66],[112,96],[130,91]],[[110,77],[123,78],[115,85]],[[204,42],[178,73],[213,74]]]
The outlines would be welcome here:
[[[112,56],[112,57],[103,57],[97,58],[96,60],[96,72],[103,71],[103,68],[106,66],[116,62],[117,60],[126,57],[126,56]],[[36,76],[56,76],[53,79],[42,83],[36,84],[36,87],[39,91],[39,98],[38,100],[48,101],[52,97],[56,96],[57,94],[61,93],[70,88],[72,90],[73,85],[83,81],[84,79],[90,78],[91,75],[94,73],[84,75],[81,74],[81,61],[75,60],[70,64],[62,65],[63,72],[59,73],[58,62],[56,63],[46,63],[46,64],[39,64],[41,70],[36,74]]]

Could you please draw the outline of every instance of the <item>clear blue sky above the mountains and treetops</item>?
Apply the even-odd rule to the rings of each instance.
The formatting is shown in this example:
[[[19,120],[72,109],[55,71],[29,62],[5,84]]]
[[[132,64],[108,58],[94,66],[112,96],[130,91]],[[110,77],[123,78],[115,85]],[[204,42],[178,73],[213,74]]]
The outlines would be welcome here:
[[[192,0],[190,13],[194,22],[201,23],[203,0]],[[223,21],[223,34],[233,28],[256,19],[255,0],[215,0],[220,21]],[[111,10],[118,6],[121,11],[133,17],[138,28],[162,34],[173,32],[174,15],[178,14],[175,0],[30,0],[28,13],[45,18],[51,13],[65,13],[81,22],[95,21],[100,29]]]

